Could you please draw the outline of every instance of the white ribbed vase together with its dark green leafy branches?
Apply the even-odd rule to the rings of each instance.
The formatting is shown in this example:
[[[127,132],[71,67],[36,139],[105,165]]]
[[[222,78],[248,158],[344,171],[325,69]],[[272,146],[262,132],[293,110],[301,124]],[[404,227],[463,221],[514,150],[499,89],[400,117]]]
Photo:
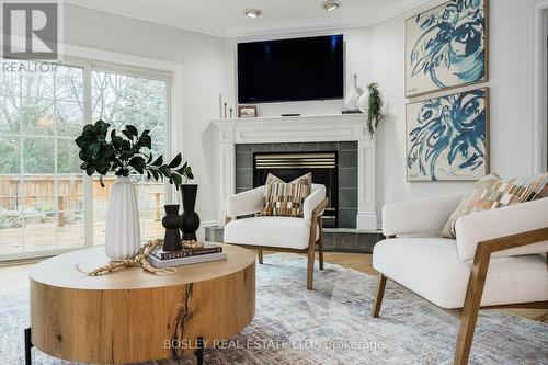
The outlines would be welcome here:
[[[126,125],[118,135],[110,127],[103,121],[88,124],[76,144],[83,161],[80,168],[89,176],[98,172],[101,186],[104,187],[103,176],[107,173],[117,176],[106,212],[105,252],[113,260],[125,260],[133,258],[141,246],[137,196],[129,175],[146,174],[156,181],[169,179],[178,190],[194,176],[189,163],[182,163],[181,153],[170,163],[164,163],[161,155],[153,158],[150,130],[139,135],[135,126]]]

